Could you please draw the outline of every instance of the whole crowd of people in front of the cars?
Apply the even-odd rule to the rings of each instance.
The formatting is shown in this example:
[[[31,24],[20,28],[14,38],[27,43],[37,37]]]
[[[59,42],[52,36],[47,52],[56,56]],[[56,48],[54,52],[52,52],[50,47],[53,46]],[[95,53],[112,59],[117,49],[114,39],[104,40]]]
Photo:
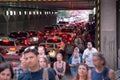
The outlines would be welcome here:
[[[83,54],[78,47],[71,53],[72,55],[68,55],[68,62],[58,53],[52,66],[43,46],[30,46],[20,54],[21,63],[16,68],[12,68],[11,63],[0,54],[0,80],[67,80],[67,64],[71,80],[115,80],[114,70],[106,67],[103,54],[91,42],[87,43]]]

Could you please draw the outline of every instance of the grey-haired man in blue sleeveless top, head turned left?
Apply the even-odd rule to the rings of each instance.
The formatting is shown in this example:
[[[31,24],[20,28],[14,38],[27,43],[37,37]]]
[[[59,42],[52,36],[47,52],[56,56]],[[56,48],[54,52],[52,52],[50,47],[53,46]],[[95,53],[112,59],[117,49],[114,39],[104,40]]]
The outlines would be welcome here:
[[[114,70],[106,67],[106,61],[101,53],[93,55],[94,68],[89,71],[89,80],[115,80]]]

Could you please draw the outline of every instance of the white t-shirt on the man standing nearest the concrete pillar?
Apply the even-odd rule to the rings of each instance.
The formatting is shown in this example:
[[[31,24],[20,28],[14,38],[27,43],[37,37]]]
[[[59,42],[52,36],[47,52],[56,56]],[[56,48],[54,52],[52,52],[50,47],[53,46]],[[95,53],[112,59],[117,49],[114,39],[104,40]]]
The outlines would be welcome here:
[[[92,57],[96,52],[98,52],[96,48],[92,48],[91,50],[87,48],[83,52],[83,59],[85,60],[85,64],[89,67],[94,67]]]

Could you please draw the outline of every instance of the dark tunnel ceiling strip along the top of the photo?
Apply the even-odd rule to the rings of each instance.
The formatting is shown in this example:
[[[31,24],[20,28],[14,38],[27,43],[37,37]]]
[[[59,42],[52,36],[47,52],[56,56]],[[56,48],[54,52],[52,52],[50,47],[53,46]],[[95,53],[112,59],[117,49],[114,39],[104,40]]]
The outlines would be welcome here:
[[[0,2],[2,8],[78,10],[93,9],[95,0]]]

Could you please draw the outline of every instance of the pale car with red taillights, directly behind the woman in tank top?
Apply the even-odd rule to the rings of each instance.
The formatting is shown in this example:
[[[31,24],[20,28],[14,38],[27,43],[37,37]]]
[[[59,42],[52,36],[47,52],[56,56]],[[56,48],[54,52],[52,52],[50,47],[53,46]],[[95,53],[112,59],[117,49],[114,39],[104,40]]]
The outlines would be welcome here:
[[[49,56],[55,58],[60,50],[64,50],[65,44],[60,37],[49,37],[45,43],[40,43],[40,46],[44,46]]]

